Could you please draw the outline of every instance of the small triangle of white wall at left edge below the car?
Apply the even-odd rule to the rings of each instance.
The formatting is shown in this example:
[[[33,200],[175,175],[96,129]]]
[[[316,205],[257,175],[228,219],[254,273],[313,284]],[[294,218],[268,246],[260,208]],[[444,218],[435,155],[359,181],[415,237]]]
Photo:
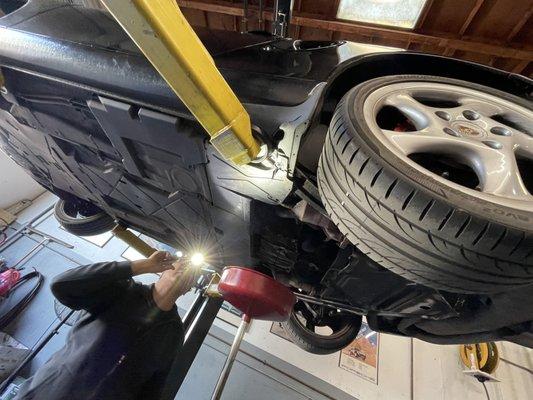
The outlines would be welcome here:
[[[6,208],[22,199],[33,200],[45,189],[21,167],[0,151],[0,208]]]

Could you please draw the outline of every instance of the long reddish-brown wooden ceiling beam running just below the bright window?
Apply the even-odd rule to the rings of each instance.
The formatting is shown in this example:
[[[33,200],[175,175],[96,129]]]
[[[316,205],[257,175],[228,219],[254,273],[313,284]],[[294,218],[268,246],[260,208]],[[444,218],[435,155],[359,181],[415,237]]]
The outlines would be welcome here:
[[[181,7],[201,9],[203,11],[229,14],[229,15],[243,15],[241,7],[226,6],[222,4],[208,4],[198,1],[177,0]],[[230,3],[231,4],[231,3]],[[265,19],[272,21],[272,12],[265,11]],[[390,29],[384,27],[377,27],[371,25],[363,25],[355,22],[344,21],[327,21],[314,17],[307,17],[296,14],[293,15],[291,24],[301,27],[309,27],[315,29],[324,29],[327,31],[337,31],[342,33],[349,33],[352,35],[360,35],[363,37],[377,37],[385,40],[405,42],[425,43],[436,47],[451,48],[454,50],[470,51],[474,53],[487,54],[494,57],[515,58],[518,60],[533,60],[533,49],[516,48],[509,45],[498,45],[478,42],[470,39],[456,39],[452,37],[438,37],[433,35],[421,34],[401,29]]]

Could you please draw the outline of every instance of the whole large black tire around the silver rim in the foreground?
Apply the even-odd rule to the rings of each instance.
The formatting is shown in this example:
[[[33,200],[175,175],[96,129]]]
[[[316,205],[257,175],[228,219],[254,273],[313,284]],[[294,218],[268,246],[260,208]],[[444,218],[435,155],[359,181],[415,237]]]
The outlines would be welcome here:
[[[532,109],[523,99],[430,76],[373,79],[338,104],[318,168],[322,201],[340,231],[371,259],[405,278],[459,293],[533,283],[533,216],[466,195],[410,167],[373,137],[367,96],[400,81],[465,86]]]

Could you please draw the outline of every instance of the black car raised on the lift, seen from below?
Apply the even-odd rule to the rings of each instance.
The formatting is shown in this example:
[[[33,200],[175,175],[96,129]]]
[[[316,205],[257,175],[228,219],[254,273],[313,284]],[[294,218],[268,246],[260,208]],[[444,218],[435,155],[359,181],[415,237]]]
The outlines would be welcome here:
[[[9,2],[7,2],[9,3]],[[526,77],[347,41],[198,29],[263,156],[222,158],[106,12],[0,19],[0,146],[93,235],[115,223],[292,287],[319,354],[379,332],[533,346]],[[4,189],[5,190],[5,189]]]

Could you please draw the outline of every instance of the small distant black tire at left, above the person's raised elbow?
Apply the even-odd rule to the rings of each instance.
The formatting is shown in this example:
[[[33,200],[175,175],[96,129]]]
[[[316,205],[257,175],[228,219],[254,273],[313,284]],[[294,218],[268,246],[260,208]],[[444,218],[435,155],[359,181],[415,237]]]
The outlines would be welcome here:
[[[77,236],[94,236],[110,231],[116,225],[113,218],[103,211],[80,217],[76,207],[65,200],[59,200],[54,215],[67,232]]]

